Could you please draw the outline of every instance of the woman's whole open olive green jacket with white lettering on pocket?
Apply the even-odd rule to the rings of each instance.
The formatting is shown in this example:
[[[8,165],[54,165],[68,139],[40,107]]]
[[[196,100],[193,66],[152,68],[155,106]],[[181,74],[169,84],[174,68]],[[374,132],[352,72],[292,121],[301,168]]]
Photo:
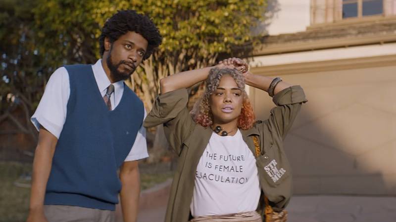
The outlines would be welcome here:
[[[283,210],[292,195],[290,165],[283,150],[283,140],[292,126],[301,104],[306,102],[300,86],[277,93],[269,119],[257,121],[253,128],[241,130],[243,138],[255,156],[252,136],[257,136],[261,155],[256,158],[259,182],[275,211]],[[188,109],[188,93],[179,89],[159,95],[144,122],[145,127],[164,125],[170,146],[179,155],[171,186],[165,222],[187,222],[193,197],[198,161],[209,143],[212,129],[194,122]],[[261,195],[262,196],[262,195]],[[263,215],[263,201],[257,211]]]

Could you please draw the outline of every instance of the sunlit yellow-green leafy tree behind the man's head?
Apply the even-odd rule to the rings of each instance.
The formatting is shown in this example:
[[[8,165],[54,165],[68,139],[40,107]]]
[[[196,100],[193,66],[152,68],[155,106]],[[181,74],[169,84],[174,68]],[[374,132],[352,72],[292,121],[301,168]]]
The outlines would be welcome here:
[[[120,9],[147,14],[163,36],[129,81],[150,110],[159,79],[211,65],[220,54],[247,53],[265,0],[39,0],[36,25],[48,65],[94,63],[100,27]]]

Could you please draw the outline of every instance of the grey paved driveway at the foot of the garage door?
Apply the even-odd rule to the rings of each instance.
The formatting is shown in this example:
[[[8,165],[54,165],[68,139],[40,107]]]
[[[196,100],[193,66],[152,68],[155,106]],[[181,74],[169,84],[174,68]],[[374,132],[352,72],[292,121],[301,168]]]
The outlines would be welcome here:
[[[138,222],[163,222],[166,200],[156,203],[140,211]],[[396,222],[396,197],[294,196],[287,210],[288,222]]]

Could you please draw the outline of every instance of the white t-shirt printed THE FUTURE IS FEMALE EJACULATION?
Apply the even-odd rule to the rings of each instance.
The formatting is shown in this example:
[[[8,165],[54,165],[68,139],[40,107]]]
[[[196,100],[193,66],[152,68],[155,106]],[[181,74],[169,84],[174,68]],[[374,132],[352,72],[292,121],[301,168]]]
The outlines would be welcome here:
[[[193,217],[255,211],[260,193],[256,160],[241,132],[213,132],[197,167]]]

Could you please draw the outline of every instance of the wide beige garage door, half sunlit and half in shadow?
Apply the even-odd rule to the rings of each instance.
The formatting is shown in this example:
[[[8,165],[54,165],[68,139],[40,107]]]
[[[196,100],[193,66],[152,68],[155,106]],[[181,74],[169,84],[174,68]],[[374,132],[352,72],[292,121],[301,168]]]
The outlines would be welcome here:
[[[296,193],[396,194],[396,66],[281,76],[308,103],[285,141]],[[254,90],[260,119],[274,106]]]

